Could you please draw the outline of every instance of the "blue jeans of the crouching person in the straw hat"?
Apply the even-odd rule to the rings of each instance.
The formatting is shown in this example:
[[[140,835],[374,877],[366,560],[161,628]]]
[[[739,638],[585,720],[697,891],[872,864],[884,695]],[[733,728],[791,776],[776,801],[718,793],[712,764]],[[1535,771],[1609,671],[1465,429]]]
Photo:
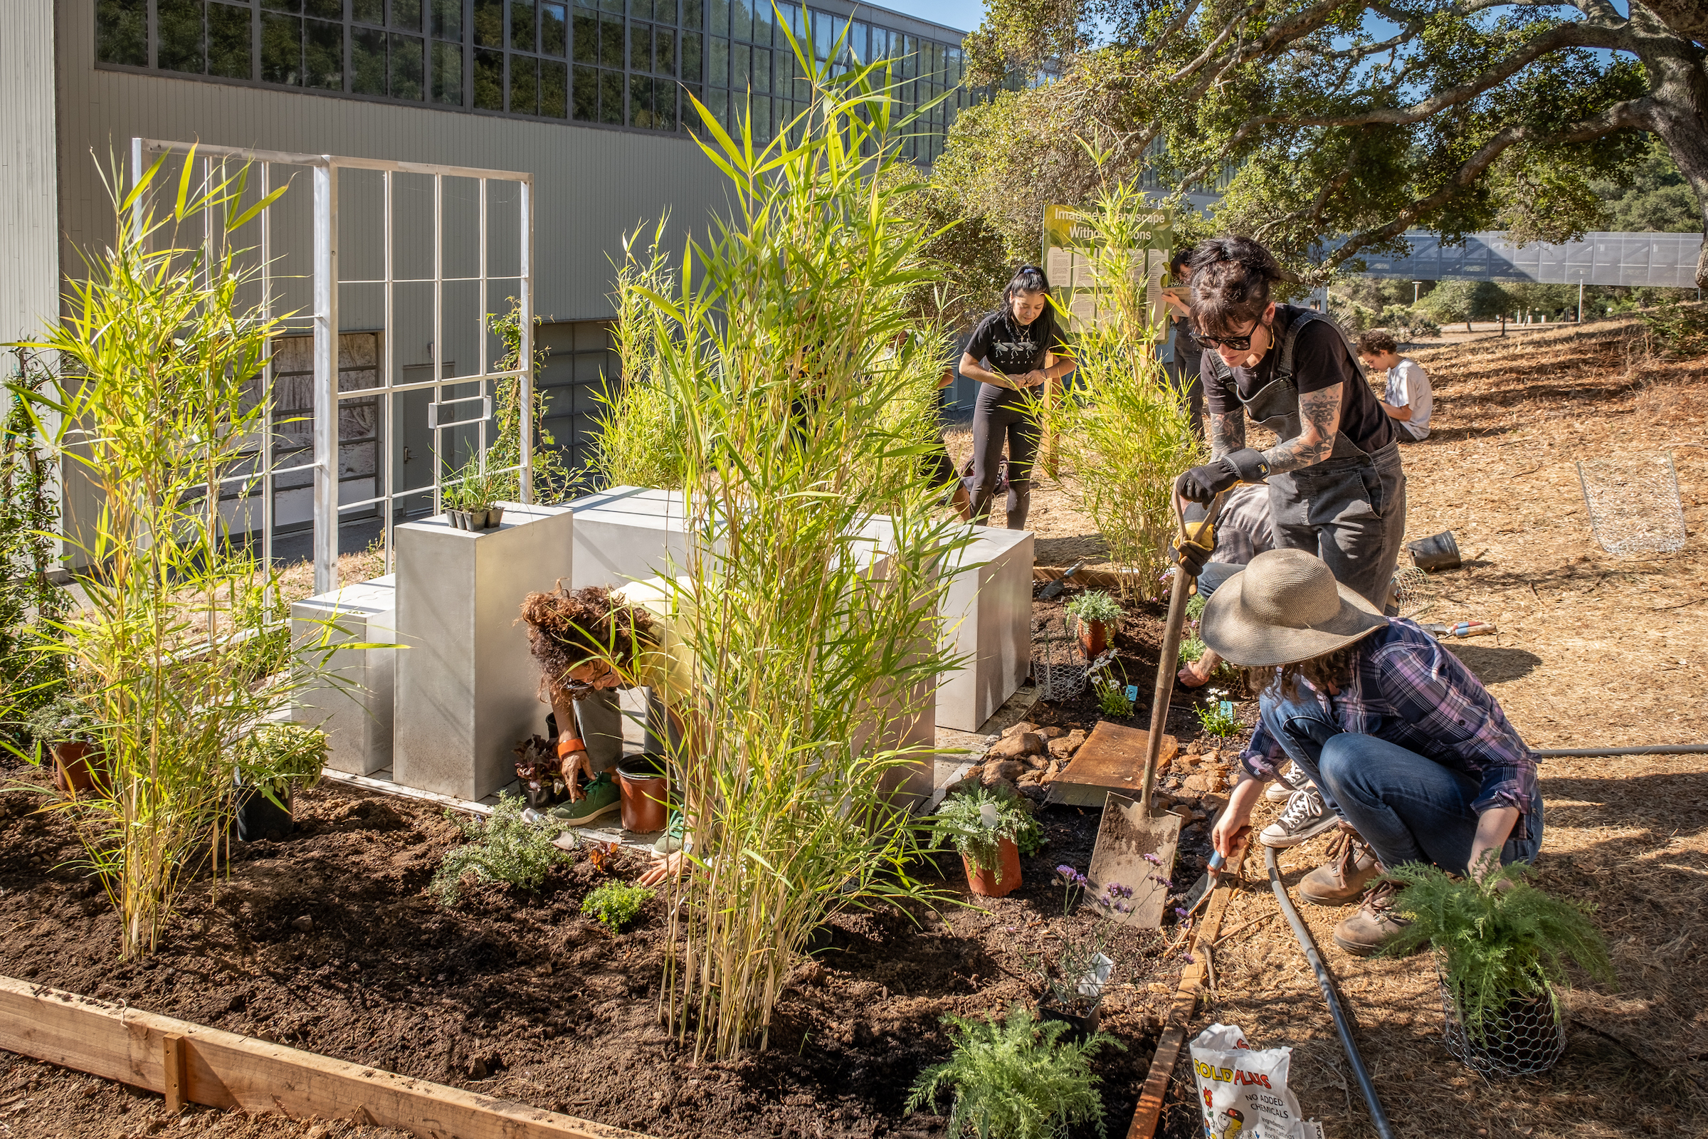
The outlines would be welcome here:
[[[1397,743],[1341,731],[1315,700],[1259,698],[1264,727],[1288,758],[1322,791],[1324,801],[1358,828],[1382,866],[1433,862],[1465,873],[1477,815],[1471,809],[1481,784]],[[1529,838],[1508,838],[1501,866],[1534,862],[1542,845],[1542,791],[1535,789]]]

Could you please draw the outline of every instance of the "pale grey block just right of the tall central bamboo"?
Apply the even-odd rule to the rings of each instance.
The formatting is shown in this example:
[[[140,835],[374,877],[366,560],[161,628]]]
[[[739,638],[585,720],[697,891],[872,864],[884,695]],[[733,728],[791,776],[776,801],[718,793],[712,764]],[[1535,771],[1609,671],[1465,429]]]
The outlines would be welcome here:
[[[1032,668],[1032,531],[972,531],[941,608],[941,647],[968,657],[938,685],[938,726],[956,731],[977,731]]]

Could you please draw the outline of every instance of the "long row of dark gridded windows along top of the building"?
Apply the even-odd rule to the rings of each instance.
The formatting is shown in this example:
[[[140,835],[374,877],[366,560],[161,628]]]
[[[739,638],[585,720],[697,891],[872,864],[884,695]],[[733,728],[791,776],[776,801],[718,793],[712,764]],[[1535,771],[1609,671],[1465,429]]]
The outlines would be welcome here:
[[[96,0],[97,61],[179,75],[675,131],[683,89],[729,123],[755,96],[763,137],[798,97],[787,46],[837,65],[897,58],[912,108],[960,84],[960,48],[769,0]],[[777,46],[781,44],[781,48]],[[767,96],[775,96],[770,99]],[[946,130],[958,108],[938,108]],[[921,140],[915,154],[941,150]]]

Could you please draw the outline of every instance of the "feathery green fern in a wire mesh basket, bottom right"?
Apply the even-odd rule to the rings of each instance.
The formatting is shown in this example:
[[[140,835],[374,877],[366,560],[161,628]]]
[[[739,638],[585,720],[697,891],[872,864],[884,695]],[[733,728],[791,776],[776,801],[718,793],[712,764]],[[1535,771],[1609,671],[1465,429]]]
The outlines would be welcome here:
[[[1587,910],[1525,885],[1527,871],[1513,862],[1474,881],[1409,864],[1389,874],[1404,886],[1394,905],[1411,924],[1383,953],[1435,949],[1447,1050],[1483,1076],[1527,1076],[1559,1060],[1566,960],[1614,980],[1607,941]]]

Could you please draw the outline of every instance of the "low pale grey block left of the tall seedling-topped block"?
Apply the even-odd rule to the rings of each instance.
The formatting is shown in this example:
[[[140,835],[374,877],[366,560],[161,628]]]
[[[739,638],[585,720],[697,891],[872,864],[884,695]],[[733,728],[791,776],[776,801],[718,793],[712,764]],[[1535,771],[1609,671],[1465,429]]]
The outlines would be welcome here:
[[[319,663],[319,645],[396,642],[396,577],[343,586],[290,605],[290,639]],[[313,651],[307,645],[316,645]],[[295,693],[290,719],[326,733],[326,767],[369,775],[391,767],[396,649],[338,649],[331,678]]]

